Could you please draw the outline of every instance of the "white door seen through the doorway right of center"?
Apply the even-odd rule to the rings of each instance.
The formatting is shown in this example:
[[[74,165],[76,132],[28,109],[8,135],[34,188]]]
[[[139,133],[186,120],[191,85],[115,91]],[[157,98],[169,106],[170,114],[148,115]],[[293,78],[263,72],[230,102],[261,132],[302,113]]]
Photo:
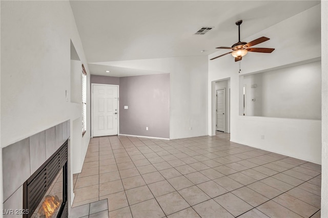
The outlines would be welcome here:
[[[216,130],[224,132],[225,127],[225,92],[224,89],[216,91]]]

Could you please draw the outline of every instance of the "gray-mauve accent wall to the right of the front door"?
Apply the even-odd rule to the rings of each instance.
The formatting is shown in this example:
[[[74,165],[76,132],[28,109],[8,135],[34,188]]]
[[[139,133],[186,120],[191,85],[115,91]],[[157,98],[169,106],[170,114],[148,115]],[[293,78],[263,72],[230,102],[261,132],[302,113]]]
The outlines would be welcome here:
[[[119,113],[120,134],[170,138],[170,74],[120,77]]]

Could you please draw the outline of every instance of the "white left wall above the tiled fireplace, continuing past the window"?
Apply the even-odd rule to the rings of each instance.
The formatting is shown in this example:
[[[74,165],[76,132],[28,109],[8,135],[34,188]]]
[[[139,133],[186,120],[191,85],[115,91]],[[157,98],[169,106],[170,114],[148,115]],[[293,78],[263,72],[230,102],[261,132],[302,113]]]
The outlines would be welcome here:
[[[2,1],[1,19],[1,147],[69,119],[73,133],[81,103],[66,101],[65,93],[71,90],[70,40],[89,69],[70,3]],[[90,100],[87,103],[90,111]],[[89,128],[79,149],[86,149],[90,140],[87,115]],[[79,130],[81,138],[81,126]]]

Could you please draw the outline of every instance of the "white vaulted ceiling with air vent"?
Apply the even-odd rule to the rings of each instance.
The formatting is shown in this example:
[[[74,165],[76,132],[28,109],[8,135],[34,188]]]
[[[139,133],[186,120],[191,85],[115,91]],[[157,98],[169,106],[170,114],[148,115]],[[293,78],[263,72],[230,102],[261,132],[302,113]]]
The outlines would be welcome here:
[[[199,56],[241,40],[320,1],[70,1],[91,74],[131,76],[161,72],[97,62]],[[211,26],[205,35],[195,35]],[[270,38],[270,36],[267,36]],[[201,50],[205,52],[200,53]],[[111,73],[105,73],[110,70]]]

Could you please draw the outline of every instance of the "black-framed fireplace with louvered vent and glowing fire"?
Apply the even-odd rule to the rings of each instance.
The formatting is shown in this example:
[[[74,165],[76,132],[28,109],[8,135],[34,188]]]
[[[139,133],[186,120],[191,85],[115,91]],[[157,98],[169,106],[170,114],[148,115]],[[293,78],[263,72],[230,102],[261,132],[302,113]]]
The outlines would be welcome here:
[[[24,218],[68,217],[68,140],[23,185]]]

